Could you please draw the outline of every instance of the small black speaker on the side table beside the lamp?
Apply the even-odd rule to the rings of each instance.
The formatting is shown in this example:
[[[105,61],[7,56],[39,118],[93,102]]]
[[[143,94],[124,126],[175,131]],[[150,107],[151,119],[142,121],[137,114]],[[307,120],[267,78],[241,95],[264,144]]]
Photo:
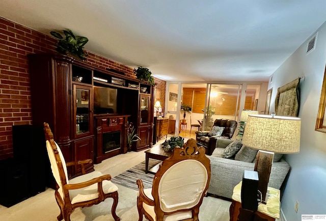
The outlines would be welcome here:
[[[243,171],[241,186],[241,207],[256,211],[258,209],[258,173]]]

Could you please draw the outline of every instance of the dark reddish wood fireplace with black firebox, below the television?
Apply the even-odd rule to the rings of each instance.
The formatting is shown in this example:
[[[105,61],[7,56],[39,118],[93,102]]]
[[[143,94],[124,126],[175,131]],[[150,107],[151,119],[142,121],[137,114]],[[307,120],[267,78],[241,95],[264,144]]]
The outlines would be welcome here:
[[[130,115],[96,115],[94,161],[127,153],[127,129]]]

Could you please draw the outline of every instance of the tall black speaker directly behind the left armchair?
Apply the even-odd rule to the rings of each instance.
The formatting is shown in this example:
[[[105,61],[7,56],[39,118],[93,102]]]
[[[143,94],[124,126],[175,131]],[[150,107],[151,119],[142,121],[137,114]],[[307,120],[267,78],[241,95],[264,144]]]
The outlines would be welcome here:
[[[45,190],[46,174],[51,173],[43,127],[13,126],[12,139],[14,159],[26,164],[30,195],[35,196]]]

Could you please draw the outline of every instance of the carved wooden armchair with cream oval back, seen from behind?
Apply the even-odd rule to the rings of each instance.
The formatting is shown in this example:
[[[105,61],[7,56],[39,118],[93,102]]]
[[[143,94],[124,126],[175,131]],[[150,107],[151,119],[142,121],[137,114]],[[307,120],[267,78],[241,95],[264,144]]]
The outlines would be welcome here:
[[[139,221],[143,214],[152,221],[199,220],[209,181],[210,161],[205,148],[190,139],[162,162],[151,189],[144,189],[142,180],[137,180]]]

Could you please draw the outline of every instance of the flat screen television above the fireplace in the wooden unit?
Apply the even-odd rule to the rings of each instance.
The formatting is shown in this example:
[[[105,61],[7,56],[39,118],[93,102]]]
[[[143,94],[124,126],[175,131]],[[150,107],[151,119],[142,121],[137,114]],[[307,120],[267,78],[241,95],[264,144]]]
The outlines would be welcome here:
[[[94,86],[94,114],[116,114],[118,89]]]

